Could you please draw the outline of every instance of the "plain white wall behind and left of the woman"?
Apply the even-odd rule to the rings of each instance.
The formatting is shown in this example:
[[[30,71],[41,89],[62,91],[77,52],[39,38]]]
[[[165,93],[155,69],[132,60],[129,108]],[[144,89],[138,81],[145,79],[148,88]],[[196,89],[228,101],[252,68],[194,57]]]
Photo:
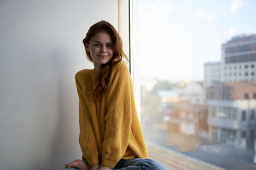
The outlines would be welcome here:
[[[92,64],[90,25],[118,26],[116,0],[0,1],[0,169],[81,159],[74,76]]]

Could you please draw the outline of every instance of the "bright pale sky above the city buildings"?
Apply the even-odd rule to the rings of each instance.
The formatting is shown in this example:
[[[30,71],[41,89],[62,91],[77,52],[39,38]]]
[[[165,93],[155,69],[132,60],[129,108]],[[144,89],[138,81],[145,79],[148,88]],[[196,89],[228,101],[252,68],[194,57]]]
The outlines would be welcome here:
[[[141,78],[202,81],[204,63],[221,60],[222,43],[256,33],[254,0],[133,2]]]

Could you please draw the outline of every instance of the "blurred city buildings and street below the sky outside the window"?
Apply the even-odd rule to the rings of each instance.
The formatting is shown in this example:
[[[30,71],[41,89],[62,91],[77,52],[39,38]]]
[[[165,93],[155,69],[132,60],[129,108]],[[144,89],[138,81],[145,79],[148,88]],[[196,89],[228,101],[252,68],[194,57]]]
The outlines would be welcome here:
[[[204,80],[141,80],[146,141],[225,169],[256,169],[256,34],[221,45]]]

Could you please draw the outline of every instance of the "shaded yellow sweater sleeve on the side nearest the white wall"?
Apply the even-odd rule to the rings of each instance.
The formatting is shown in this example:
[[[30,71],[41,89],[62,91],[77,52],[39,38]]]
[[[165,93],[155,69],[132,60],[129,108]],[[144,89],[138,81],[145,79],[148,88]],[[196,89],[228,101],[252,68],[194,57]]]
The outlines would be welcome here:
[[[86,159],[90,166],[99,164],[99,149],[93,130],[92,118],[86,104],[83,88],[79,83],[79,76],[76,74],[76,87],[79,97],[79,144],[83,153],[82,159]]]

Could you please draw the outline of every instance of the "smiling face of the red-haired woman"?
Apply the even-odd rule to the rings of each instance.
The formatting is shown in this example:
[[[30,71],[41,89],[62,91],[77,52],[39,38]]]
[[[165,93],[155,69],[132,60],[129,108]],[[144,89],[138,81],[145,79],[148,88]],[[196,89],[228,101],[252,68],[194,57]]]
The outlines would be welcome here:
[[[106,64],[113,57],[113,42],[108,32],[99,32],[86,44],[90,52],[95,69],[99,71],[102,64]]]

